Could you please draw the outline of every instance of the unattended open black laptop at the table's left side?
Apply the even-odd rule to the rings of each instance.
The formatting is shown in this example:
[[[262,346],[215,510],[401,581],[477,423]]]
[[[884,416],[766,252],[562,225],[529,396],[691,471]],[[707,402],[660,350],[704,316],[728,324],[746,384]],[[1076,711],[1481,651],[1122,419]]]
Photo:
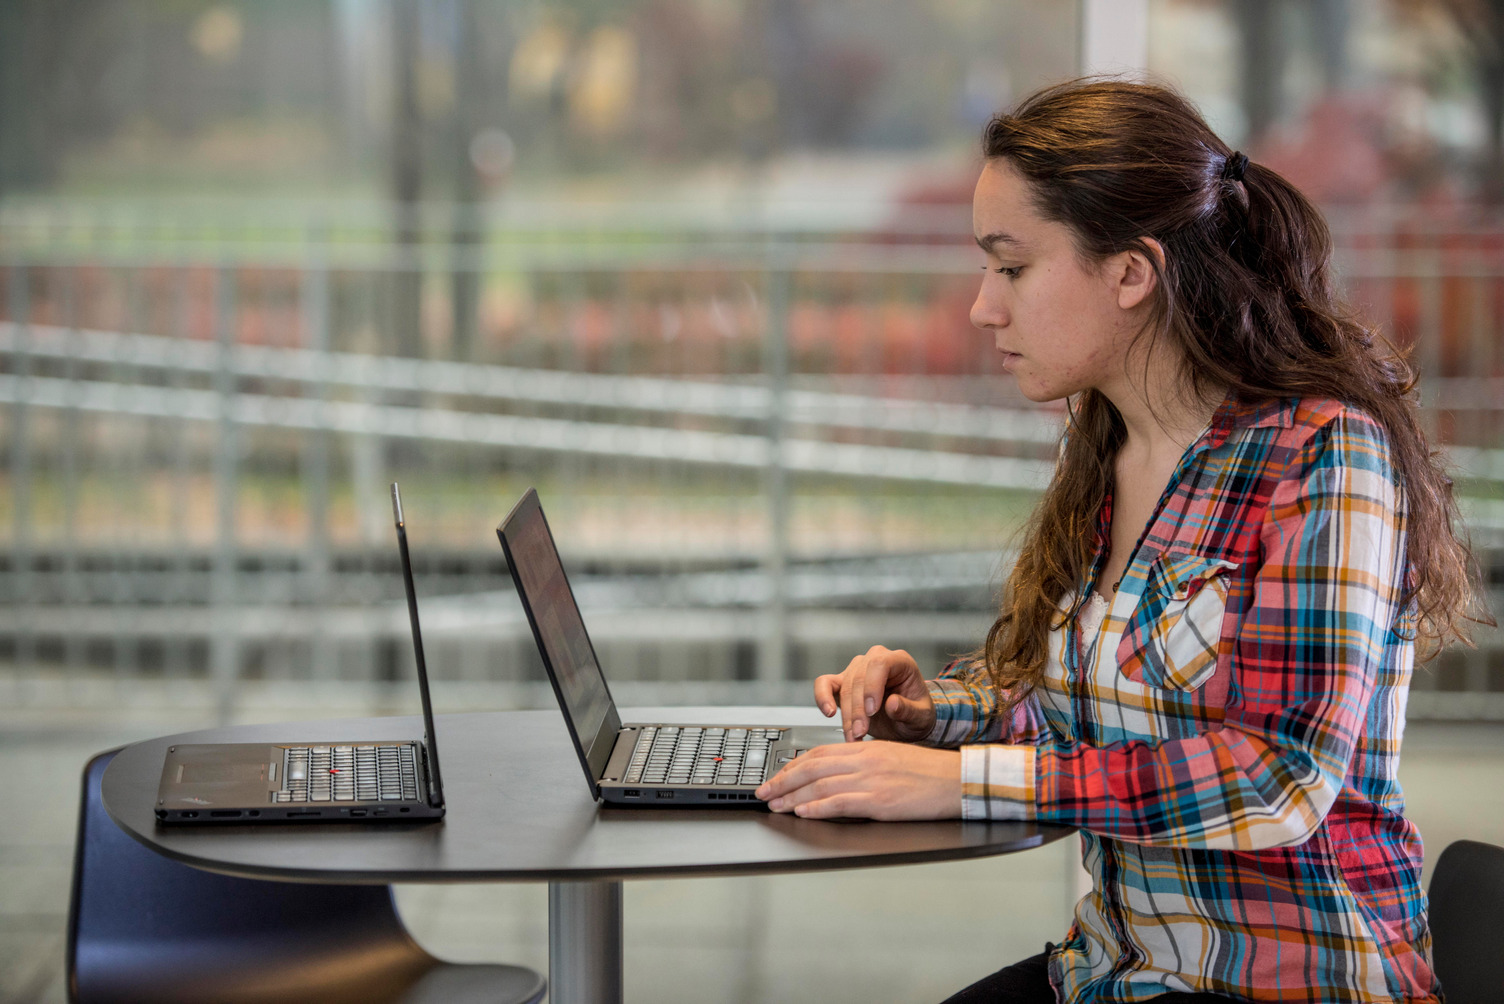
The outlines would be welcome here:
[[[402,582],[423,696],[421,739],[182,744],[167,750],[156,789],[158,824],[355,822],[439,819],[444,783],[418,630],[402,494],[391,485]]]

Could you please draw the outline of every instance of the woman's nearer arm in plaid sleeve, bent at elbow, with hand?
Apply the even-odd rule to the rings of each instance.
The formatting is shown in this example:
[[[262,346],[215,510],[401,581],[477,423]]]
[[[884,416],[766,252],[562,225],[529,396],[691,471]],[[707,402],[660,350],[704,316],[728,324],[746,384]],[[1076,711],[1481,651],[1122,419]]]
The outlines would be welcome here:
[[[1397,615],[1397,502],[1382,431],[1351,413],[1324,425],[1272,493],[1223,726],[1110,747],[969,745],[958,764],[961,815],[1175,846],[1250,851],[1308,839],[1342,789]],[[890,750],[853,750],[842,764],[800,758],[760,797],[806,816],[854,815],[877,804],[884,771],[896,776],[878,758],[913,759]],[[917,773],[917,761],[902,770]],[[943,788],[935,782],[934,794]],[[884,813],[901,818],[902,806]]]

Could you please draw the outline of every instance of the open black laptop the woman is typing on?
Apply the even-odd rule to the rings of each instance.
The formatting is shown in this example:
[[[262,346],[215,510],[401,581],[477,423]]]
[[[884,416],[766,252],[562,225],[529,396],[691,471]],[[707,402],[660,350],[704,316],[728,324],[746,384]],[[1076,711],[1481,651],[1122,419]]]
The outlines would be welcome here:
[[[535,490],[528,488],[496,537],[596,798],[766,807],[754,794],[758,785],[805,750],[842,741],[833,726],[623,723]]]

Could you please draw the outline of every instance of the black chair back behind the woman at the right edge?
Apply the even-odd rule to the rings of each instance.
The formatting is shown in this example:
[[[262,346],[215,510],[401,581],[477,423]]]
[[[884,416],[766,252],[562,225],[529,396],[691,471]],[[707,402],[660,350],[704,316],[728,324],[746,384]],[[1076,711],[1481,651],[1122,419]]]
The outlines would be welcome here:
[[[1430,875],[1432,962],[1447,1004],[1504,996],[1504,848],[1457,840]]]

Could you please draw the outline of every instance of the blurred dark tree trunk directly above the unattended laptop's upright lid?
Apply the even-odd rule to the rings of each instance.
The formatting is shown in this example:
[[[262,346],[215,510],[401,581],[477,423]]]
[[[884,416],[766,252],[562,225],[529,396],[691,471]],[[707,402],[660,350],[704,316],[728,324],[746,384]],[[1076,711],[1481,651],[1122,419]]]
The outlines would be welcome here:
[[[418,0],[391,0],[393,102],[391,186],[397,216],[391,284],[393,349],[423,355],[423,272],[418,198],[423,192],[423,120],[418,116]]]

